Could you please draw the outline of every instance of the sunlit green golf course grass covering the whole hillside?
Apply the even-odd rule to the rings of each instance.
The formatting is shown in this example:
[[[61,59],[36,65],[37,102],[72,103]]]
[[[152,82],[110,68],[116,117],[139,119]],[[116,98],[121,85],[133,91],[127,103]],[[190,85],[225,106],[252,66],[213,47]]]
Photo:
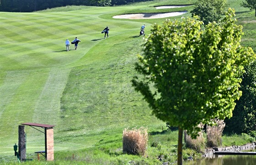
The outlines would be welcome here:
[[[254,11],[240,7],[241,1],[229,0],[237,11],[238,23],[244,27],[242,44],[256,51]],[[12,146],[18,142],[18,125],[23,122],[55,125],[55,164],[65,164],[64,160],[70,164],[127,164],[131,160],[156,164],[159,154],[174,162],[177,132],[162,132],[166,130],[165,122],[151,115],[148,104],[131,84],[137,75],[134,63],[144,43],[139,28],[146,24],[148,35],[151,24],[165,18],[125,20],[112,16],[192,10],[192,6],[170,10],[152,7],[178,4],[189,4],[189,0],[155,0],[115,7],[67,6],[34,13],[1,12],[0,163],[16,162]],[[110,37],[103,39],[101,31],[106,26],[110,28]],[[71,45],[71,51],[66,52],[65,40],[75,37],[81,40],[78,50]],[[123,129],[134,127],[148,128],[148,158],[122,153]],[[25,129],[27,154],[35,160],[34,152],[44,149],[44,136],[28,126]],[[224,138],[225,141],[229,139]]]

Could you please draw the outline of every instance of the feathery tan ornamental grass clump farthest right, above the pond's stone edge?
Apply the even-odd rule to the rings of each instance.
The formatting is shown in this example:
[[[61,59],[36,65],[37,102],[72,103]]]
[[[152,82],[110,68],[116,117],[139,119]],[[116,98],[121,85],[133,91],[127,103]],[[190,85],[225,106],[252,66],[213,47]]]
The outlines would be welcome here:
[[[222,132],[225,127],[224,120],[214,119],[216,125],[206,127],[207,146],[219,147],[222,144]]]

